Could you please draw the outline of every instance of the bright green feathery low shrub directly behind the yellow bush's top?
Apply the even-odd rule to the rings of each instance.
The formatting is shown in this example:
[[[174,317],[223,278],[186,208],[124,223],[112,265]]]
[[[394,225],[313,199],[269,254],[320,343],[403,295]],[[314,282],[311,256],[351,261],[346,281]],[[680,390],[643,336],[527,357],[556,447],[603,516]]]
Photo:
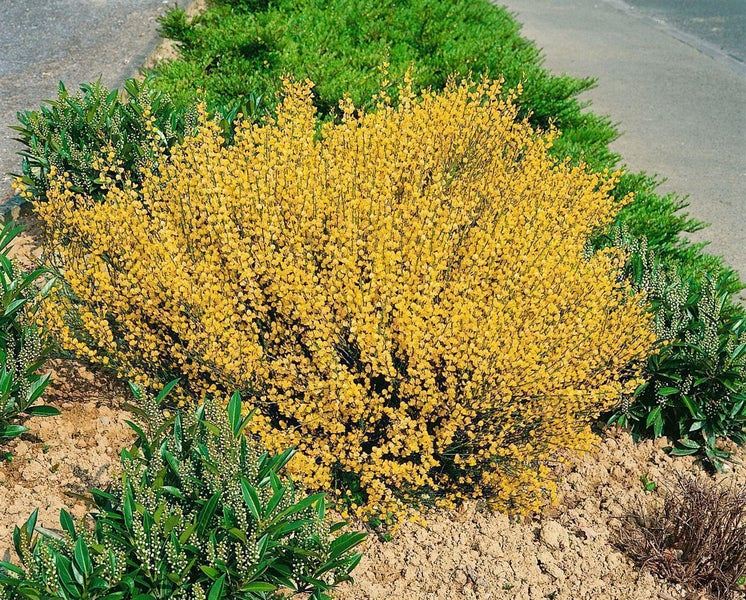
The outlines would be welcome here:
[[[394,91],[408,69],[415,91],[442,89],[451,75],[504,77],[506,89],[523,86],[522,116],[541,127],[555,123],[586,162],[612,162],[607,144],[616,137],[613,127],[581,114],[575,99],[593,81],[542,69],[539,51],[518,34],[519,25],[488,2],[278,0],[261,12],[245,10],[247,4],[219,0],[191,19],[170,11],[162,31],[182,54],[154,70],[154,86],[184,104],[197,99],[199,88],[209,107],[259,95],[272,108],[281,76],[290,73],[316,83],[314,102],[328,115],[345,94],[356,106],[374,108],[384,79]]]

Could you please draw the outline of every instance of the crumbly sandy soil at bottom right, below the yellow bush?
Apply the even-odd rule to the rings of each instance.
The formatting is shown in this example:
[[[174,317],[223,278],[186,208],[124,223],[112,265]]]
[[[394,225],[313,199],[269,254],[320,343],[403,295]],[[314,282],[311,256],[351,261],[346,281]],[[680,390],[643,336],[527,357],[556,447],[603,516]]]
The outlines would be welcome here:
[[[401,599],[609,599],[699,598],[640,573],[610,543],[619,518],[661,497],[675,470],[709,477],[691,459],[673,459],[664,440],[635,444],[612,430],[600,447],[565,468],[559,503],[541,519],[517,523],[501,514],[465,507],[439,513],[427,527],[405,526],[391,542],[368,542],[345,585],[344,600]],[[743,452],[738,453],[744,457]],[[659,487],[645,492],[640,477]],[[746,483],[734,465],[716,479]]]

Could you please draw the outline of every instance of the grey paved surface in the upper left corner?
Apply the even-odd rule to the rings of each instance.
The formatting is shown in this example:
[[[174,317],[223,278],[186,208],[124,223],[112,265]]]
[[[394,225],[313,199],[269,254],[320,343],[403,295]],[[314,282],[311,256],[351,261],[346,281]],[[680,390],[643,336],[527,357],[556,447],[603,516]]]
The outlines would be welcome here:
[[[182,2],[181,4],[185,4]],[[12,141],[19,110],[37,108],[99,77],[108,86],[135,74],[155,47],[164,0],[0,0],[0,201],[17,171]]]

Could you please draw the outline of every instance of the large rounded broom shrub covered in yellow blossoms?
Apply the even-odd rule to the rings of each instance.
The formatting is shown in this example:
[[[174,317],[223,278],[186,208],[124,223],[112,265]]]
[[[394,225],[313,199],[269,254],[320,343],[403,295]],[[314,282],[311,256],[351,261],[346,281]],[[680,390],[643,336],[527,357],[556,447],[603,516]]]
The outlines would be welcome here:
[[[344,103],[321,128],[310,84],[285,94],[230,146],[203,115],[103,202],[57,174],[50,327],[141,385],[239,390],[269,449],[296,446],[296,477],[358,514],[537,509],[547,461],[589,446],[653,341],[622,257],[585,251],[612,178],[553,162],[497,82]]]

